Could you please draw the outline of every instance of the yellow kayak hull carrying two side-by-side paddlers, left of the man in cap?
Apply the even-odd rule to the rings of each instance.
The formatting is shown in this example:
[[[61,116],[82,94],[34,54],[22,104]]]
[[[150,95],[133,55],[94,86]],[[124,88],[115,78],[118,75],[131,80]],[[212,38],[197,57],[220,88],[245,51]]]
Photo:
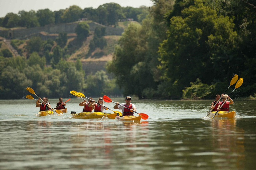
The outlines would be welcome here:
[[[102,112],[81,112],[81,113],[71,113],[72,118],[76,119],[98,119],[108,117],[108,119],[115,119],[116,113],[102,113]]]

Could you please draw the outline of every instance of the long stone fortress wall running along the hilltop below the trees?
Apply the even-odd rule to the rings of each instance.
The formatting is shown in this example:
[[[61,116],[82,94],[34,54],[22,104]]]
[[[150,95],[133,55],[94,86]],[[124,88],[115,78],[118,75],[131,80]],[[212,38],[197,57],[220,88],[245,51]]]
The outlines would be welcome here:
[[[48,34],[75,33],[75,28],[78,23],[79,22],[73,22],[66,24],[46,25],[44,27],[0,30],[0,36],[9,39],[24,39],[38,36],[38,33],[40,32],[46,32]],[[88,25],[90,26],[90,31],[94,31],[96,27],[106,27],[106,35],[121,35],[124,32],[123,28],[107,27],[95,22],[88,22]],[[41,35],[41,37],[43,36],[44,35]]]

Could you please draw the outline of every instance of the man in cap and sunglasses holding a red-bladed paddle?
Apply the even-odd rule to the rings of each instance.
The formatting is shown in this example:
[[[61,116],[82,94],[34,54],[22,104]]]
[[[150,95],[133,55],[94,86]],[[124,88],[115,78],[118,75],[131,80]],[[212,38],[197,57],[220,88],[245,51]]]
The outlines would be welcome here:
[[[126,115],[132,115],[133,116],[133,111],[136,112],[136,107],[135,107],[134,104],[131,103],[131,100],[132,100],[132,98],[130,96],[126,96],[126,98],[125,98],[126,103],[122,103],[122,104],[120,104],[121,105],[120,106],[120,105],[118,105],[119,102],[116,102],[116,105],[114,106],[114,109],[122,110],[123,111],[123,116],[126,116]],[[127,107],[129,109],[126,109],[122,106]]]

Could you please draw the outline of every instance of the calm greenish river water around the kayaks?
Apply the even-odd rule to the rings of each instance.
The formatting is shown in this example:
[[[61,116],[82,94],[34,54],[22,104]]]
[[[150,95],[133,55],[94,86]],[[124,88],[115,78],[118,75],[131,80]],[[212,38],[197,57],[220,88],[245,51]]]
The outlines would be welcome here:
[[[56,106],[58,99],[49,102]],[[72,119],[70,111],[82,111],[79,102],[71,99],[63,116],[37,117],[34,100],[0,100],[0,169],[256,167],[256,101],[235,100],[231,110],[237,118],[212,120],[204,118],[209,100],[132,100],[138,113],[149,116],[140,123]]]

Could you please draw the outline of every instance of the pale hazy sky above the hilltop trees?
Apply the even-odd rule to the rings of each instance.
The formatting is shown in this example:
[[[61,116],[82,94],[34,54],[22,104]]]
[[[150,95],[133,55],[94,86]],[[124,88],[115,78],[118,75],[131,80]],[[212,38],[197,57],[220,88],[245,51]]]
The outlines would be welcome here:
[[[80,8],[92,7],[98,8],[100,5],[106,3],[117,3],[121,7],[152,6],[151,0],[0,0],[0,17],[5,17],[9,12],[18,14],[19,11],[37,11],[39,9],[50,9],[51,11],[58,11],[60,9],[69,8],[69,6],[77,5]]]

